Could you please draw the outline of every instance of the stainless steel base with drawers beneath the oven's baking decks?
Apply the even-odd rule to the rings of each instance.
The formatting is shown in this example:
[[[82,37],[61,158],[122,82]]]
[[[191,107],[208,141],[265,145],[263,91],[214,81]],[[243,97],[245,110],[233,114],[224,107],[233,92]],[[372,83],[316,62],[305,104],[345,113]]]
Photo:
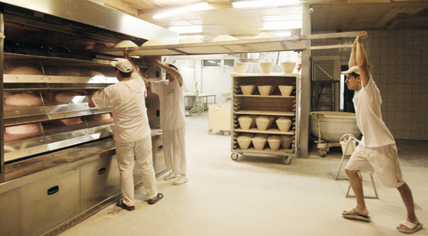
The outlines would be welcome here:
[[[162,132],[151,132],[156,176],[165,173]],[[113,138],[11,162],[0,176],[0,235],[57,235],[121,198]],[[143,186],[138,165],[136,188]]]

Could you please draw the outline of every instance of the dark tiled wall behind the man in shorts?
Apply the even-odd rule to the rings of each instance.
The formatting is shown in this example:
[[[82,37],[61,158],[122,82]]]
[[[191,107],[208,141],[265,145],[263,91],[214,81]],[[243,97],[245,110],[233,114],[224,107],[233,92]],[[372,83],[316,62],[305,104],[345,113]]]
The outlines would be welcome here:
[[[334,33],[318,31],[312,33]],[[382,115],[395,139],[428,140],[428,29],[367,31],[370,72],[382,95]],[[353,43],[354,38],[312,41],[312,45]],[[312,55],[340,55],[350,48],[314,50]]]

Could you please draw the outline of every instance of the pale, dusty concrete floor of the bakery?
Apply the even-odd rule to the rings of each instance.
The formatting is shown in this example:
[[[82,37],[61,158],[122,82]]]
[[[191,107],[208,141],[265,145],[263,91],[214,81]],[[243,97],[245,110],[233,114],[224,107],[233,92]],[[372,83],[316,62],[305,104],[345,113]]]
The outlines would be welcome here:
[[[148,205],[140,189],[136,210],[111,205],[61,235],[403,235],[395,229],[405,218],[399,193],[377,176],[380,199],[366,201],[372,222],[342,218],[342,210],[355,207],[355,199],[345,198],[348,181],[335,181],[340,149],[325,158],[313,149],[311,159],[292,159],[290,165],[273,156],[244,155],[232,161],[230,136],[207,132],[208,114],[188,117],[188,183],[173,186],[158,178],[165,198],[156,205]],[[426,227],[427,144],[397,141],[404,178]],[[370,177],[363,177],[365,193],[372,195]],[[428,230],[414,235],[428,235]]]

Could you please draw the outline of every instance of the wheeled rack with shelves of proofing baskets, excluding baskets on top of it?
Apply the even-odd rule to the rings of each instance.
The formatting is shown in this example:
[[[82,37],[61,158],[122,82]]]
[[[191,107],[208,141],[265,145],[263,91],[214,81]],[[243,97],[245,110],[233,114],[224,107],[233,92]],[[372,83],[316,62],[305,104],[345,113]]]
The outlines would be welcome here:
[[[256,153],[295,156],[297,76],[291,73],[232,74],[233,134],[231,158]]]

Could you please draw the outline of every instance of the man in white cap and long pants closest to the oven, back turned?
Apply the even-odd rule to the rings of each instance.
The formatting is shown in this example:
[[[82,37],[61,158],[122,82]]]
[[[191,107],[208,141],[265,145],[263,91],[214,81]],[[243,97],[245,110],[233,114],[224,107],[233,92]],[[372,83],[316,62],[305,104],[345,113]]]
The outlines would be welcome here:
[[[143,176],[148,204],[155,204],[163,198],[156,187],[153,169],[151,129],[148,126],[144,97],[146,84],[128,60],[119,59],[111,64],[116,68],[119,82],[95,92],[89,100],[89,107],[111,107],[123,195],[123,200],[117,205],[126,210],[134,210],[133,168],[136,162]]]

